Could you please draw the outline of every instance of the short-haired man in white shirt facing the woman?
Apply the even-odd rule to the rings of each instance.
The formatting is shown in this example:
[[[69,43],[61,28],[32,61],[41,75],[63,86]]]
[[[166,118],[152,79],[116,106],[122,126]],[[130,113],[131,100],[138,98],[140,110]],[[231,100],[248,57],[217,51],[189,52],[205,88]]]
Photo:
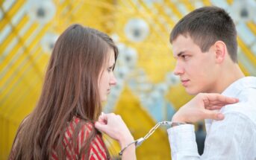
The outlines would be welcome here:
[[[245,77],[237,64],[237,31],[219,7],[202,7],[184,16],[170,35],[177,60],[175,74],[190,95],[222,93],[240,102],[223,107],[222,121],[206,120],[205,150],[199,156],[194,126],[168,129],[175,159],[256,159],[256,77]],[[194,123],[179,109],[172,121]],[[197,113],[199,116],[204,114]]]

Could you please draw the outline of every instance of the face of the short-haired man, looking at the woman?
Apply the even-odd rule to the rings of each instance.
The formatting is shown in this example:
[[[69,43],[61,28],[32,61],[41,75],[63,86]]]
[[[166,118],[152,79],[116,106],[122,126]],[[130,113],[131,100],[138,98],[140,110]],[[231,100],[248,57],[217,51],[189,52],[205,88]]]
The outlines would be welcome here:
[[[172,42],[173,55],[177,60],[174,73],[190,95],[214,92],[218,76],[216,54],[213,47],[202,53],[190,36],[179,35]]]

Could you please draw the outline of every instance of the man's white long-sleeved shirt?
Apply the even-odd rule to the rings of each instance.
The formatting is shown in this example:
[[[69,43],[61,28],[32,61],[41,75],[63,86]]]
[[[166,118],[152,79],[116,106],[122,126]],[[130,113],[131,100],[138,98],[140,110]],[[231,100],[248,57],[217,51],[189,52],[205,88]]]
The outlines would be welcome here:
[[[256,77],[243,77],[222,93],[239,103],[224,106],[222,121],[205,120],[205,150],[199,156],[194,126],[183,124],[168,129],[172,160],[256,160]]]

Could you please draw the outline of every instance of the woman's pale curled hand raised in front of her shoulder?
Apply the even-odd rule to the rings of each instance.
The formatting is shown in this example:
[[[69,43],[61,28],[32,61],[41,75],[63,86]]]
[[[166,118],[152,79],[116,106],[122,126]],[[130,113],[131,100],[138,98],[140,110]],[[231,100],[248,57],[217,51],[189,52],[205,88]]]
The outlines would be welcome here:
[[[116,141],[119,141],[122,148],[134,141],[134,137],[131,135],[125,122],[122,121],[120,115],[115,115],[114,113],[102,113],[102,115],[99,116],[99,121],[96,122],[95,127]]]

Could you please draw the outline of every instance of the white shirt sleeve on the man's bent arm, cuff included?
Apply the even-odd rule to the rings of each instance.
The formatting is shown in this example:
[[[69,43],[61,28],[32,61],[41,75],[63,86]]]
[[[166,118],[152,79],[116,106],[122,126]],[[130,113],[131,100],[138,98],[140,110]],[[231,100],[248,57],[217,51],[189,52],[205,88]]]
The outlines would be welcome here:
[[[172,160],[183,159],[255,159],[255,124],[239,112],[225,114],[223,121],[213,121],[199,156],[194,126],[184,124],[168,129]]]

